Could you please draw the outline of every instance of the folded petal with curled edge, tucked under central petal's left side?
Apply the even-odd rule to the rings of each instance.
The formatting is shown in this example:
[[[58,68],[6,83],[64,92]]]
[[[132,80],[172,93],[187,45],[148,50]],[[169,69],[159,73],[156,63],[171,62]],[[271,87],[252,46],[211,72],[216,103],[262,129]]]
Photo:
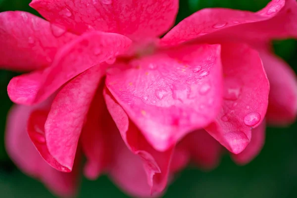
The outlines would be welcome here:
[[[129,182],[127,184],[122,184],[124,185],[123,188],[126,188],[132,193],[140,194],[140,196],[142,197],[144,195],[162,192],[167,184],[170,159],[173,148],[169,148],[164,152],[159,152],[152,148],[148,144],[144,136],[141,134],[141,132],[134,125],[134,123],[129,120],[123,108],[115,101],[114,98],[112,98],[107,89],[104,90],[103,95],[106,101],[107,109],[119,129],[122,139],[126,143],[127,147],[134,154],[138,155],[138,157],[142,159],[144,170],[147,174],[147,184],[149,188],[147,188],[147,185],[143,182],[140,182],[138,184],[138,179],[135,179],[134,177],[131,178],[134,173],[131,173],[129,180],[131,182],[131,180],[133,179],[135,186],[130,186],[132,184]],[[135,171],[139,171],[138,168],[134,168],[134,166],[130,166],[129,164],[127,167],[127,163],[129,163],[128,161],[129,160],[125,159],[123,162],[121,162],[123,166],[125,166],[123,168],[125,168],[126,170],[127,168],[132,168],[133,171],[134,169]],[[119,175],[117,177],[117,179],[120,180],[120,183],[122,183],[122,181],[124,181],[123,179],[126,178],[124,174],[123,176],[124,177],[122,177],[122,175]],[[140,175],[140,177],[142,176]],[[138,185],[140,185],[141,187],[138,187]]]

